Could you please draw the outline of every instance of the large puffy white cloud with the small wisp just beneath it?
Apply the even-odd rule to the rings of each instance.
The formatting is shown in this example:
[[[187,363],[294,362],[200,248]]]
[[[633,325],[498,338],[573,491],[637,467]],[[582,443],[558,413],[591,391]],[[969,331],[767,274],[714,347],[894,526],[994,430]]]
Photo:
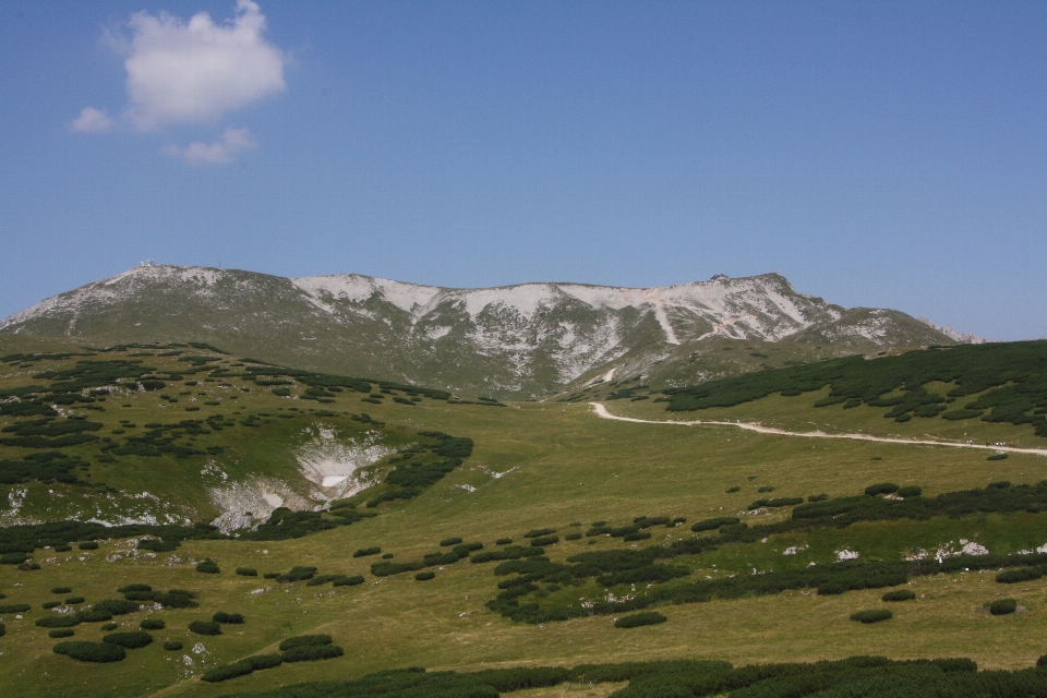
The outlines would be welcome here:
[[[263,38],[265,15],[251,0],[238,0],[236,17],[224,25],[206,12],[188,23],[167,13],[140,12],[130,26],[127,117],[140,130],[216,121],[286,87],[285,56]],[[227,131],[225,142],[210,146],[194,143],[185,157],[197,146],[225,152],[230,133],[239,132]],[[200,161],[226,160],[202,156]]]

